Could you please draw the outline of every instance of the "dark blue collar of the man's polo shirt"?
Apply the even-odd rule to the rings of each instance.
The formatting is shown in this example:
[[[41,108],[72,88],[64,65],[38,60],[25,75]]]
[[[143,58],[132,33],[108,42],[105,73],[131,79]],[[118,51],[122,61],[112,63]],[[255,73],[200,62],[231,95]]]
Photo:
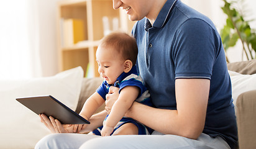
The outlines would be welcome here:
[[[173,9],[174,4],[176,1],[180,1],[180,0],[167,0],[167,2],[165,2],[165,4],[163,5],[161,11],[159,12],[157,19],[155,20],[155,22],[153,23],[153,27],[162,27],[163,24],[165,24],[166,20],[167,20],[167,16],[170,14],[171,9]],[[146,19],[145,22],[145,30],[149,30],[152,27],[152,25],[149,22],[149,19]]]

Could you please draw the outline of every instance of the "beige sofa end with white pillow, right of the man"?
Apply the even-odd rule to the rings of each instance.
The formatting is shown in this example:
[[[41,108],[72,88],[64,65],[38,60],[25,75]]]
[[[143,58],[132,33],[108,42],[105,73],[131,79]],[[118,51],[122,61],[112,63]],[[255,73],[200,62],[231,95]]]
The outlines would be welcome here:
[[[232,97],[236,100],[233,103],[239,148],[256,148],[256,60],[228,63],[227,68],[231,76]]]

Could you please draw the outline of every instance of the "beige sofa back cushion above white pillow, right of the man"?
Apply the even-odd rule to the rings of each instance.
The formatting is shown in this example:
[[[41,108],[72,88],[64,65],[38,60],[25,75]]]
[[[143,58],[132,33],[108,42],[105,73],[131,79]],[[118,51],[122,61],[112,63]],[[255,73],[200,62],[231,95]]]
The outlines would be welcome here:
[[[243,75],[252,75],[256,73],[256,60],[228,63],[227,68]]]

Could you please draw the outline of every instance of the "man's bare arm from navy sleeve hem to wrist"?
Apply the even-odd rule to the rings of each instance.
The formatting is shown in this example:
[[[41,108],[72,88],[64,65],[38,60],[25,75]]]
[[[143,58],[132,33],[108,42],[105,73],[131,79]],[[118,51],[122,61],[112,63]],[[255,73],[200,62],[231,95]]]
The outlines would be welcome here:
[[[126,116],[164,134],[196,139],[204,129],[209,85],[209,79],[176,79],[177,110],[157,109],[134,102]],[[112,100],[111,96],[116,95],[107,96],[107,100]]]

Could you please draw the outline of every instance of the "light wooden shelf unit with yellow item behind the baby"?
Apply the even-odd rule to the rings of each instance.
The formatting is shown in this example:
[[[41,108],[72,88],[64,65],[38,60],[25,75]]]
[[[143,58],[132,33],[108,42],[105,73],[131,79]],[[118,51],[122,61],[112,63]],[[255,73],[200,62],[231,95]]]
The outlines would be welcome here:
[[[59,71],[81,66],[85,71],[85,76],[88,70],[90,76],[99,76],[95,53],[99,40],[104,37],[103,17],[106,16],[109,20],[118,18],[119,29],[117,30],[128,33],[130,33],[134,24],[128,19],[123,10],[112,9],[111,0],[60,1],[58,2],[57,15]],[[75,43],[76,36],[72,35],[77,32],[75,32],[75,29],[78,28],[78,25],[74,22],[75,20],[78,20],[81,28],[78,29],[79,38],[83,39],[78,43]],[[73,26],[66,28],[67,22]],[[69,32],[71,34],[67,34]]]

